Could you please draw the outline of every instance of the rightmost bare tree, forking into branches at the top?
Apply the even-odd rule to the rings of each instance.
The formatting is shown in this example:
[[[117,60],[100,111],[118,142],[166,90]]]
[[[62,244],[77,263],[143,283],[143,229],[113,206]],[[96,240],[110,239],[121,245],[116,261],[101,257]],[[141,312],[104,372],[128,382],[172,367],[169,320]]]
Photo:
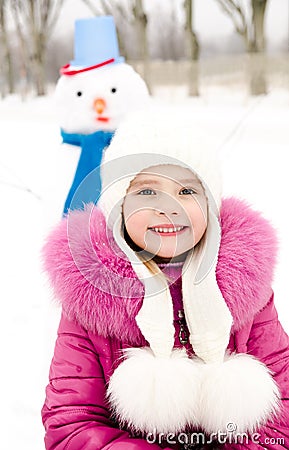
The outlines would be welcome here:
[[[248,57],[250,91],[252,95],[267,93],[264,56],[266,49],[264,21],[268,0],[250,0],[249,13],[246,2],[240,0],[217,0],[231,18],[237,33],[242,36]]]

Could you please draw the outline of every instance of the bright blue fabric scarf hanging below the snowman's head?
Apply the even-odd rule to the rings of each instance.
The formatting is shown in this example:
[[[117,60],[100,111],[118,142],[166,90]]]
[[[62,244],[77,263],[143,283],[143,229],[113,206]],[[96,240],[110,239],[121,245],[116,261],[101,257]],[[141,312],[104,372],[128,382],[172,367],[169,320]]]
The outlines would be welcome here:
[[[113,133],[96,131],[92,134],[66,133],[61,130],[65,144],[81,147],[81,153],[68,192],[63,214],[70,209],[83,209],[85,203],[97,203],[101,192],[100,164],[103,151],[110,144]]]

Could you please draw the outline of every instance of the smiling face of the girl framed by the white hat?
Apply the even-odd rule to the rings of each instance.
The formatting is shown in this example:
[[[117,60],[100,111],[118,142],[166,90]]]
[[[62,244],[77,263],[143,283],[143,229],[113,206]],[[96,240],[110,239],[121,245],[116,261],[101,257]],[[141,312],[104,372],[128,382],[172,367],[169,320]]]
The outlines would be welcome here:
[[[202,184],[189,170],[159,165],[140,172],[123,203],[129,237],[142,250],[174,258],[192,249],[207,227]]]

